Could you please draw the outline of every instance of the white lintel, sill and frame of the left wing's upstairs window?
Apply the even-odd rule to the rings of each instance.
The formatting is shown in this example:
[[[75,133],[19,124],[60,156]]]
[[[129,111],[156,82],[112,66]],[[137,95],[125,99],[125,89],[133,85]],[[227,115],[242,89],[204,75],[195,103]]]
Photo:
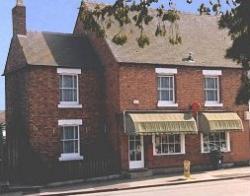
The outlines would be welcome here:
[[[67,69],[67,68],[58,68],[57,73],[60,76],[76,76],[76,101],[60,101],[58,108],[82,108],[82,105],[79,104],[79,77],[81,74],[81,69]],[[61,90],[61,89],[59,89]]]

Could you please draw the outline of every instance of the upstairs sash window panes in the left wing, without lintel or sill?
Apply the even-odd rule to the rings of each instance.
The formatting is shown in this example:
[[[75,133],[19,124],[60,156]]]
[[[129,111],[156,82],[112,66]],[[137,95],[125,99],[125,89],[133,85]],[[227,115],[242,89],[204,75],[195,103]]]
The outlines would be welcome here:
[[[78,103],[77,75],[60,75],[60,102]]]

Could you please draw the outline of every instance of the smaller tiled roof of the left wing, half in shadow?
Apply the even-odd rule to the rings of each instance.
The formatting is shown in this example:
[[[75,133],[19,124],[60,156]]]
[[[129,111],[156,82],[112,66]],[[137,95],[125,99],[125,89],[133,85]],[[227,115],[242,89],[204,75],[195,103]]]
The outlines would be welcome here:
[[[98,66],[98,58],[85,38],[72,34],[28,32],[18,35],[26,61],[30,65]]]

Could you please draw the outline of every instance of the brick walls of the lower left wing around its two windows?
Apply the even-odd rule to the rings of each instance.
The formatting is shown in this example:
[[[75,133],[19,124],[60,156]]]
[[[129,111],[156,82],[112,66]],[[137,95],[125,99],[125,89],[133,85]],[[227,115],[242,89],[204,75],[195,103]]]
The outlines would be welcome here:
[[[56,67],[31,66],[6,75],[6,117],[8,141],[20,129],[27,134],[31,150],[42,160],[60,156],[60,119],[82,119],[81,153],[102,154],[103,133],[102,74],[84,69],[79,76],[81,109],[59,109],[59,75]],[[17,123],[18,122],[18,123]],[[17,138],[22,140],[21,137]],[[98,144],[98,145],[97,145]],[[94,148],[93,148],[94,147]],[[93,149],[93,150],[91,150]],[[94,153],[93,153],[94,152]]]

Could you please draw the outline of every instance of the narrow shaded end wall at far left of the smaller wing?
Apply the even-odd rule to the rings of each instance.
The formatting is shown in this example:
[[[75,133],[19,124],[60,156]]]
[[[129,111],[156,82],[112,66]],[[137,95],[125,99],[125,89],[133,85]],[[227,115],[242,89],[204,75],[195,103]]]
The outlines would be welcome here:
[[[5,77],[6,137],[9,175],[19,172],[18,167],[26,151],[28,120],[27,71],[21,69]]]

